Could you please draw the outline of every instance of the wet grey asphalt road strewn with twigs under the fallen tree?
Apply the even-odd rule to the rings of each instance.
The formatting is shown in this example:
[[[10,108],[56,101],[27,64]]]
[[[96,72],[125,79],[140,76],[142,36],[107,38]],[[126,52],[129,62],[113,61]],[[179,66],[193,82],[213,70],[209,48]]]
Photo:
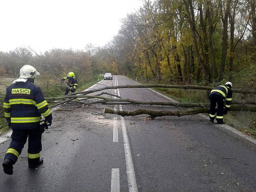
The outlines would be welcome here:
[[[115,84],[136,82],[114,76],[93,89]],[[108,92],[134,100],[166,100],[147,88]],[[44,163],[28,168],[26,144],[13,175],[0,171],[0,191],[256,191],[256,144],[223,126],[199,115],[122,118],[102,114],[103,108],[179,110],[145,105],[57,107],[51,128],[43,134]],[[8,146],[0,145],[0,156]]]

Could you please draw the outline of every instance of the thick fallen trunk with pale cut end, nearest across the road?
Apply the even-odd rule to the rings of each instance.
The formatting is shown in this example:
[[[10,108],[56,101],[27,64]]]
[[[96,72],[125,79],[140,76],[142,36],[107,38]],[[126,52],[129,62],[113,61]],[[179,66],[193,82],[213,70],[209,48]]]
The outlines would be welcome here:
[[[231,111],[252,111],[256,112],[256,106],[232,106],[230,108]],[[161,117],[161,116],[186,116],[186,115],[196,115],[200,113],[208,113],[209,108],[194,108],[191,110],[182,110],[182,111],[153,111],[148,109],[137,109],[136,111],[117,111],[113,109],[104,108],[103,113],[116,114],[120,116],[136,116],[140,114],[150,115],[151,118]]]

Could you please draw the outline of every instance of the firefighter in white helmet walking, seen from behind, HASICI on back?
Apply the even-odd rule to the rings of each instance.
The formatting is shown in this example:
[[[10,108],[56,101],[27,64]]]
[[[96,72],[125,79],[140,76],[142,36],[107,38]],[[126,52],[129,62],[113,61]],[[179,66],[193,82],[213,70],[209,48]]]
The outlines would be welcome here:
[[[12,129],[12,141],[4,156],[3,168],[6,174],[13,173],[13,165],[17,162],[28,138],[28,167],[43,163],[40,159],[42,150],[41,115],[44,116],[44,127],[52,124],[52,114],[48,108],[44,94],[34,84],[39,73],[31,65],[20,69],[20,78],[6,88],[4,97],[4,115],[8,126]],[[41,126],[42,128],[42,126]]]

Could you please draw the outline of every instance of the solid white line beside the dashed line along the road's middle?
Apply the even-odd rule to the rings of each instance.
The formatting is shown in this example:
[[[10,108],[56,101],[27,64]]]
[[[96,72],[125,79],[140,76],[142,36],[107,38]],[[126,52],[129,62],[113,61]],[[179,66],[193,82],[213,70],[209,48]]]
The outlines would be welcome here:
[[[118,80],[117,85],[118,85]],[[118,96],[120,96],[119,89],[117,89]],[[119,110],[122,111],[123,107],[122,105],[119,105]],[[126,162],[126,172],[127,172],[127,179],[128,179],[128,185],[129,185],[129,192],[138,192],[137,183],[135,179],[135,172],[134,167],[132,163],[132,154],[130,149],[130,144],[128,140],[126,125],[124,121],[124,117],[121,116],[122,121],[122,133],[123,133],[123,139],[124,139],[124,154],[125,154],[125,162]]]

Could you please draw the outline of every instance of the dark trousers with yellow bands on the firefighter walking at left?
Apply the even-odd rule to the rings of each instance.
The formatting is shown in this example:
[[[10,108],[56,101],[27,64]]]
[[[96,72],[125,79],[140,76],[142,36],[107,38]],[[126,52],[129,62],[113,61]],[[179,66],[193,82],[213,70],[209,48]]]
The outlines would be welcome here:
[[[12,130],[12,141],[4,156],[4,159],[9,158],[12,164],[15,164],[18,157],[27,142],[28,138],[28,162],[39,160],[40,151],[42,150],[42,133],[37,129],[19,129]]]

